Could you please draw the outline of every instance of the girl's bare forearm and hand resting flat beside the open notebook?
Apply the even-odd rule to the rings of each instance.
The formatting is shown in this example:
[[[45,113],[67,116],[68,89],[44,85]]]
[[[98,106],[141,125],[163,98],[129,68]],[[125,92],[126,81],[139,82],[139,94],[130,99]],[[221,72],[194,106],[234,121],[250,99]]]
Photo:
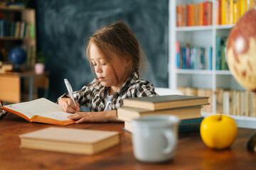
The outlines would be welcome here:
[[[75,120],[75,123],[82,122],[120,122],[116,118],[116,111],[100,111],[100,112],[78,112],[68,116],[69,119]]]

